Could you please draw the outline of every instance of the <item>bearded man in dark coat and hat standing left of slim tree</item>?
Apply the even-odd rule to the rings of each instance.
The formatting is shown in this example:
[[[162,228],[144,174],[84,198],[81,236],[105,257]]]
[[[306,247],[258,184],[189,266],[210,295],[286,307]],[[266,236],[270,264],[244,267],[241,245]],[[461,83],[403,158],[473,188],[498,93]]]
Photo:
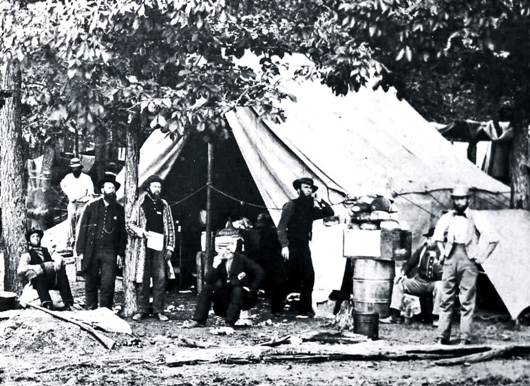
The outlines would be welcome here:
[[[125,209],[116,202],[120,183],[110,174],[98,183],[103,197],[85,205],[79,221],[76,253],[85,275],[85,307],[112,309],[118,266],[122,264],[127,244]]]

